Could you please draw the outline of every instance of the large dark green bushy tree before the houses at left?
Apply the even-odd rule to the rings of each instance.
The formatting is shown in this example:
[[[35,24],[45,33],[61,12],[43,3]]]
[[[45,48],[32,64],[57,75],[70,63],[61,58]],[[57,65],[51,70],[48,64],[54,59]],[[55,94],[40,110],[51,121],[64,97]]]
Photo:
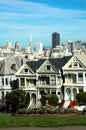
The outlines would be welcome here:
[[[11,107],[11,112],[15,113],[18,108],[25,106],[26,93],[24,90],[14,89],[6,94],[7,109]]]

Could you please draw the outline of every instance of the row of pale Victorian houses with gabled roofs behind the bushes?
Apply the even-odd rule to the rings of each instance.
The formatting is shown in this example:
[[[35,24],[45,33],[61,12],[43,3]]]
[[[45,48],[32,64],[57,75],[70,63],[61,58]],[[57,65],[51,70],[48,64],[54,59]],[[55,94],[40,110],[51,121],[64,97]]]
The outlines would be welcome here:
[[[30,94],[30,104],[41,94],[56,94],[66,107],[76,100],[77,93],[86,91],[86,55],[24,61],[20,56],[0,60],[0,101],[18,87]]]

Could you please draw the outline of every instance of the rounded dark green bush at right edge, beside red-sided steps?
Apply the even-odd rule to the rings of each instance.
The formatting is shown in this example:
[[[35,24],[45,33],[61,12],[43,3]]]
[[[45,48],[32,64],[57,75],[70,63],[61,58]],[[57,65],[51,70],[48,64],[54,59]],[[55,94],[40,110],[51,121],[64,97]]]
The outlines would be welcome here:
[[[80,92],[76,95],[76,99],[79,104],[86,105],[86,92]]]

